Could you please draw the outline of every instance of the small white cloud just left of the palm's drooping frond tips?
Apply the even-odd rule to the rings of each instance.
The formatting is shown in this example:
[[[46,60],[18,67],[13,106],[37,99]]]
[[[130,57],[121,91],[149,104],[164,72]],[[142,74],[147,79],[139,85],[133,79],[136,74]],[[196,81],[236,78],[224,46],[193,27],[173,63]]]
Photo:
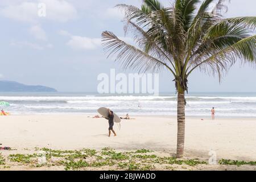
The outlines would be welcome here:
[[[101,39],[92,39],[82,36],[71,36],[71,39],[68,41],[67,46],[72,49],[96,49],[101,45]]]

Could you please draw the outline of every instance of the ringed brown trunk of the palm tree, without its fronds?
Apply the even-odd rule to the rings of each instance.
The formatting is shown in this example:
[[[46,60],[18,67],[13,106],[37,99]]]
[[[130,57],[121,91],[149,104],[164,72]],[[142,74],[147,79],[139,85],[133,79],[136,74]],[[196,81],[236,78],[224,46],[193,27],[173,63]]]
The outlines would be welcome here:
[[[183,158],[185,140],[185,94],[179,92],[177,96],[177,158]]]

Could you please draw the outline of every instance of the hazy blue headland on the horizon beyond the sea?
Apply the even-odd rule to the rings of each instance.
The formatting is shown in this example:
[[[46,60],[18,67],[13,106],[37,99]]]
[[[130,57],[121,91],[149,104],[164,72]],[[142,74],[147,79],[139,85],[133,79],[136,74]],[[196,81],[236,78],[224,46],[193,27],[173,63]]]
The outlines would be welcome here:
[[[24,85],[15,81],[0,81],[0,92],[57,92],[41,85]]]

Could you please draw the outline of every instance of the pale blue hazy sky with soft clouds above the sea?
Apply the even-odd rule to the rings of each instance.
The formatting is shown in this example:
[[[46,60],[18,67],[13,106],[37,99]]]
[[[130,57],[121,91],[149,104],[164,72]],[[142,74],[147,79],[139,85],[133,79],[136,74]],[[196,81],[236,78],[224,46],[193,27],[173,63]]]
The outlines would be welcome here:
[[[162,0],[164,5],[172,1]],[[46,16],[42,4],[46,5]],[[140,6],[141,0],[1,0],[0,80],[51,86],[60,92],[96,92],[100,73],[124,71],[106,59],[101,32],[113,31],[127,42],[123,14],[117,4]],[[231,0],[226,17],[256,16],[255,0]],[[42,16],[43,15],[43,16]],[[196,71],[189,78],[190,92],[256,92],[256,67],[234,65],[228,75],[212,77]],[[174,78],[162,71],[160,92],[174,92]]]

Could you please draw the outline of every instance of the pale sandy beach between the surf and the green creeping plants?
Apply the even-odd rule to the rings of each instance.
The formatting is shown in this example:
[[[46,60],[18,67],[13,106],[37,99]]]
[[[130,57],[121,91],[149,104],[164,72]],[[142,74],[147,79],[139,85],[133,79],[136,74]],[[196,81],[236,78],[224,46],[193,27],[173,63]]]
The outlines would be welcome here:
[[[108,121],[86,115],[11,115],[0,118],[0,143],[24,153],[35,147],[55,150],[81,150],[104,147],[118,151],[146,148],[160,155],[175,155],[175,117],[134,117],[123,120],[121,130],[114,126],[118,137],[108,137]],[[187,118],[185,158],[256,160],[256,119]],[[14,151],[1,151],[3,155]],[[255,169],[250,168],[250,169]]]

